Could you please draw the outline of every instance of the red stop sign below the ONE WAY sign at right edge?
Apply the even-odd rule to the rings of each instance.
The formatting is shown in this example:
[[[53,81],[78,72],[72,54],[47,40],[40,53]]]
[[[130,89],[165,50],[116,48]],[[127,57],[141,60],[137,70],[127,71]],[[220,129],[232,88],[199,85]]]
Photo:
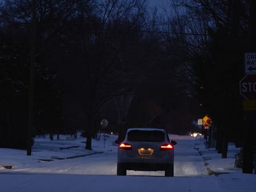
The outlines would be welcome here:
[[[256,100],[256,74],[246,74],[241,79],[240,94],[247,100]]]

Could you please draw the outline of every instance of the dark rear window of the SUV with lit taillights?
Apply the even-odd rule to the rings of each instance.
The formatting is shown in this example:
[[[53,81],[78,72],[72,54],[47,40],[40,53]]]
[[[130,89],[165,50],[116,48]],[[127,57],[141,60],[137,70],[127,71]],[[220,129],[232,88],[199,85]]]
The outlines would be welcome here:
[[[165,134],[161,130],[130,130],[127,136],[130,142],[164,142]]]

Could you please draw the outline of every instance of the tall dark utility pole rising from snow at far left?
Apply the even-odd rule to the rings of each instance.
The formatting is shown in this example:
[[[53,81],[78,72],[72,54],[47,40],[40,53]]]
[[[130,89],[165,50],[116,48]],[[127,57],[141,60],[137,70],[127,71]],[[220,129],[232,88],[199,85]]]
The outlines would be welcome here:
[[[31,156],[33,113],[34,113],[34,63],[36,62],[36,0],[32,0],[32,26],[31,26],[31,50],[30,50],[30,90],[28,100],[28,133],[26,143],[26,155]]]

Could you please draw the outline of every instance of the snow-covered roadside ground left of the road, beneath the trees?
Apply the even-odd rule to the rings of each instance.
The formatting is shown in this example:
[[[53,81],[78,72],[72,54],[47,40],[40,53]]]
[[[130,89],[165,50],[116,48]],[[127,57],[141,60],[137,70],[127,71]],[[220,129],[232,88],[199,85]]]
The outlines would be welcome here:
[[[103,134],[101,140],[93,140],[93,150],[86,150],[86,139],[78,135],[78,139],[71,140],[68,135],[60,135],[60,139],[50,141],[49,137],[34,138],[32,155],[27,156],[25,150],[14,150],[9,148],[0,148],[0,170],[9,171],[28,171],[39,167],[46,168],[50,164],[62,163],[65,159],[73,159],[77,156],[87,156],[90,154],[100,154],[107,151],[117,150],[114,140],[116,135],[105,135],[105,146]],[[69,147],[74,148],[69,148]],[[78,146],[78,147],[77,147]],[[60,149],[62,148],[62,150]],[[66,149],[65,149],[66,148]],[[12,169],[4,169],[2,166],[12,166]],[[44,172],[43,169],[41,169]],[[51,172],[50,170],[47,172]]]

